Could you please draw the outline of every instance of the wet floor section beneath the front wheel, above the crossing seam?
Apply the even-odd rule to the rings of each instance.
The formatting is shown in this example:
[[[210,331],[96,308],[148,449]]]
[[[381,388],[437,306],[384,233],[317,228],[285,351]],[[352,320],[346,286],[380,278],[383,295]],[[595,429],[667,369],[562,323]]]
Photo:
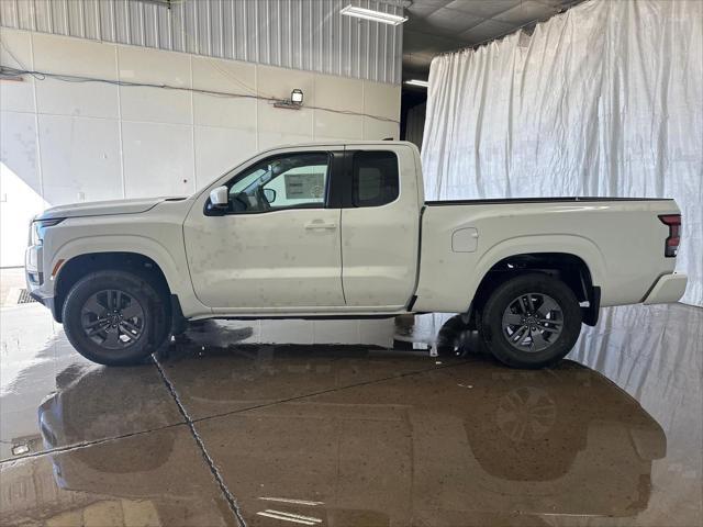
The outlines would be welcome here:
[[[34,317],[52,327],[41,306],[18,307],[11,315],[18,312],[30,316],[2,313],[0,459],[182,423],[176,403],[153,366],[94,365],[78,355],[63,333],[34,327]],[[29,330],[12,335],[8,341],[5,329],[10,324],[29,326]],[[25,341],[26,346],[33,341],[42,344],[26,349]]]

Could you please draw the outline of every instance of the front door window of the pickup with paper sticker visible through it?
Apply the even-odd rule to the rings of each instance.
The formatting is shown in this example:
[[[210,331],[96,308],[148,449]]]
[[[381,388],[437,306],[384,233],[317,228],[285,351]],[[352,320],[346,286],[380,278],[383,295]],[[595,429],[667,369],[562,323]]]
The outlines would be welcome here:
[[[230,181],[230,212],[325,206],[330,155],[297,153],[266,159]]]

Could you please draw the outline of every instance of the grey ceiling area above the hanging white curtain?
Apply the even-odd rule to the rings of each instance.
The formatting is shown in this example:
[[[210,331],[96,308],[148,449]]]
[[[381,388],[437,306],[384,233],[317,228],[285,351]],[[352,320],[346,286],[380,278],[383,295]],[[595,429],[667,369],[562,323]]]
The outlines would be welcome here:
[[[403,29],[403,80],[426,79],[432,58],[548,19],[582,0],[414,0]]]

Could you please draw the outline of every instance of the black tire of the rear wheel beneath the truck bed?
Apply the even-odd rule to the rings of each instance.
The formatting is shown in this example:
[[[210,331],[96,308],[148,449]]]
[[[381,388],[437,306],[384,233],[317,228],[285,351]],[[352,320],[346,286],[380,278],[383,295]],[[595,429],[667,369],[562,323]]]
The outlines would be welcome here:
[[[535,293],[535,296],[527,298],[531,293]],[[555,317],[554,323],[536,322],[536,326],[522,322],[516,325],[504,324],[504,315],[523,316],[522,312],[521,314],[513,313],[514,307],[511,306],[516,305],[515,302],[522,304],[523,301],[529,301],[533,303],[534,300],[534,304],[537,304],[539,299],[549,299],[558,305],[559,311],[551,311],[551,314],[548,315]],[[545,301],[545,305],[547,305],[547,301]],[[549,305],[553,305],[551,302]],[[539,313],[539,309],[527,309],[526,311],[533,313],[534,317],[525,317],[525,319],[542,318],[542,315],[535,314]],[[506,315],[506,313],[509,314]],[[561,317],[560,322],[556,319],[557,316]],[[522,333],[524,327],[527,327],[526,333]],[[556,329],[560,333],[556,334]],[[561,280],[537,272],[522,274],[503,282],[493,291],[483,306],[479,330],[487,347],[504,365],[512,368],[544,368],[558,362],[573,348],[581,333],[581,307],[573,291]],[[534,339],[533,334],[535,335]],[[511,344],[509,340],[511,335],[518,338],[520,341]],[[535,340],[537,338],[540,339],[540,346],[545,346],[546,343],[545,348],[537,347]],[[533,346],[536,346],[537,349],[531,349]]]

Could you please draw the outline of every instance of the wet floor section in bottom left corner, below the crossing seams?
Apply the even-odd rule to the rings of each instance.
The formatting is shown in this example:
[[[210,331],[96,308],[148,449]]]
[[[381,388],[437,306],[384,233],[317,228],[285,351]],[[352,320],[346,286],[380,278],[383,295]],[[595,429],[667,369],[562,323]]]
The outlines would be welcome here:
[[[0,525],[237,525],[185,425],[9,461],[0,478]]]

